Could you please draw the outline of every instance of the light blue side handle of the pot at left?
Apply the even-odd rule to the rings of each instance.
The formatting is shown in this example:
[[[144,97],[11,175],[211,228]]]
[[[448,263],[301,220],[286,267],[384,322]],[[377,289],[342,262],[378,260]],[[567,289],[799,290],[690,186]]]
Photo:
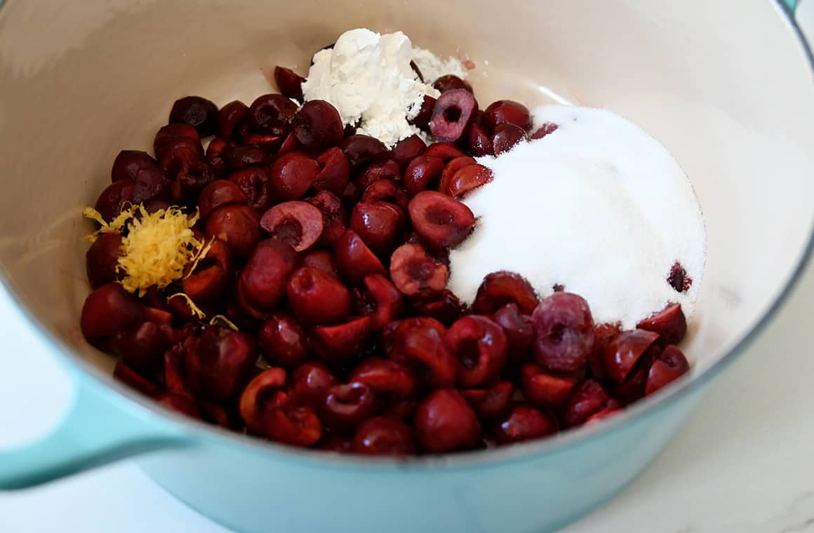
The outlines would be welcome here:
[[[37,442],[0,451],[0,491],[33,487],[147,452],[186,448],[191,439],[99,383],[73,377],[74,401]]]

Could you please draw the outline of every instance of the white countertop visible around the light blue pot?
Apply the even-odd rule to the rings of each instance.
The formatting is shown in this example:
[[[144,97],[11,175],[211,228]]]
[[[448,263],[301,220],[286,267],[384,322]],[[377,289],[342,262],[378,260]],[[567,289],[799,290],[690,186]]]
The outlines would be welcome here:
[[[803,2],[798,15],[814,30],[814,2]],[[814,267],[650,470],[563,532],[814,532],[812,299]],[[2,449],[55,420],[68,390],[5,294],[0,346]],[[127,461],[0,493],[0,531],[228,533]]]

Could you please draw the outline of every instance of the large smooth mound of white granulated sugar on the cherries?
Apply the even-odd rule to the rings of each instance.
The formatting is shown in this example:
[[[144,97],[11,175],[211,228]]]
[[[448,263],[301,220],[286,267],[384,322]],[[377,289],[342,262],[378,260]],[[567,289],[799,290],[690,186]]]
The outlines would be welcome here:
[[[471,303],[486,274],[510,270],[542,297],[555,284],[583,296],[597,324],[632,328],[671,302],[689,317],[706,233],[676,159],[610,111],[541,106],[532,116],[559,127],[479,158],[494,180],[464,199],[479,221],[450,253],[449,289]],[[676,261],[693,280],[685,293],[667,282]]]

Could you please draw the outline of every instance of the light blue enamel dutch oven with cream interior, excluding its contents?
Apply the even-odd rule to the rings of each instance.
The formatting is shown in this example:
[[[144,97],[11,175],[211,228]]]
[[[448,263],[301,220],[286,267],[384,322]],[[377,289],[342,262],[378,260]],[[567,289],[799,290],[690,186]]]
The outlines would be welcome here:
[[[0,452],[0,488],[132,458],[237,531],[554,531],[659,454],[794,285],[812,247],[814,84],[794,2],[7,0],[0,10],[0,272],[75,389],[37,443]],[[121,148],[150,146],[168,103],[269,92],[348,28],[400,29],[466,56],[482,101],[606,107],[676,155],[707,224],[685,351],[694,369],[584,429],[405,460],[335,457],[177,416],[110,377],[82,339],[94,202]],[[770,354],[755,354],[770,356]]]

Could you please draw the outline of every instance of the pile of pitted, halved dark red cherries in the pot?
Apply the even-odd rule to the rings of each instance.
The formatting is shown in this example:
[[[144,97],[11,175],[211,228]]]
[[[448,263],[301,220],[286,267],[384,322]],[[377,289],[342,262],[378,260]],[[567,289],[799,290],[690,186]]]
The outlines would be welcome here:
[[[250,106],[177,100],[155,157],[116,156],[95,206],[106,221],[131,204],[181,206],[212,243],[185,277],[140,298],[116,282],[122,235],[90,247],[81,330],[119,357],[116,378],[281,443],[405,455],[545,437],[688,371],[677,304],[620,331],[562,287],[540,299],[518,273],[488,275],[470,307],[446,289],[449,248],[475,225],[458,199],[492,180],[473,158],[556,125],[532,133],[522,104],[480,110],[466,81],[444,76],[413,121],[438,142],[414,135],[388,150],[344,128],[330,103],[294,103],[294,72],[275,78],[282,94]]]

